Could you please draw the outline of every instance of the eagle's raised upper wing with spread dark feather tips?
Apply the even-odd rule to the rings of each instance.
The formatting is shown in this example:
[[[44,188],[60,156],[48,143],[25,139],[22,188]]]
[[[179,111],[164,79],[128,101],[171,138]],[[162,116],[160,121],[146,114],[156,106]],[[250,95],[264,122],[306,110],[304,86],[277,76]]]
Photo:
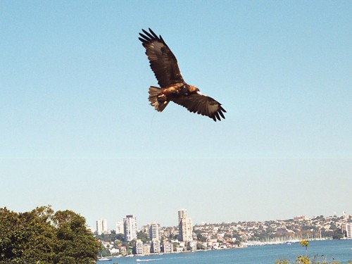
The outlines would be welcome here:
[[[180,69],[177,65],[175,55],[172,54],[168,45],[161,36],[157,36],[153,30],[150,32],[142,30],[139,33],[139,40],[146,49],[146,56],[149,58],[151,70],[153,70],[160,87],[168,87],[170,84],[184,82]]]

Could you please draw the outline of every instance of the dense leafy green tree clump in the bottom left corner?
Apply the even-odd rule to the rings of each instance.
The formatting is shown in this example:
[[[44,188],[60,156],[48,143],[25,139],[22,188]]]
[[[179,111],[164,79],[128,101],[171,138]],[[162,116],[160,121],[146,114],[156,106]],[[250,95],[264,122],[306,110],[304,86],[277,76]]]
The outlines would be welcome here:
[[[0,208],[0,263],[95,263],[99,249],[85,219],[71,210]]]

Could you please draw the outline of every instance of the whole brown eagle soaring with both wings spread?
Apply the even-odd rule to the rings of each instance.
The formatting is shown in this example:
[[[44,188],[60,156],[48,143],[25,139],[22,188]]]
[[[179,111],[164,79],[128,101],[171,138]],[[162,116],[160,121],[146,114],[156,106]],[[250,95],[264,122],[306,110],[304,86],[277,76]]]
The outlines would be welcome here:
[[[142,30],[139,40],[146,49],[151,70],[153,70],[159,87],[149,88],[149,101],[156,111],[163,111],[169,101],[184,106],[192,113],[199,113],[213,118],[214,121],[225,118],[221,103],[203,95],[197,87],[184,82],[177,60],[163,38],[149,28],[149,32]]]

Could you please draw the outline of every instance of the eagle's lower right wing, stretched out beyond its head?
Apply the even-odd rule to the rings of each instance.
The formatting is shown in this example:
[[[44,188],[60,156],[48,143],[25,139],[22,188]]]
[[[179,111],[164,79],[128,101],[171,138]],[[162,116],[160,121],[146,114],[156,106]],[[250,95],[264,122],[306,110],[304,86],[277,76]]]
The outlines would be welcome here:
[[[224,113],[226,111],[222,108],[221,103],[199,92],[173,98],[172,101],[184,106],[192,113],[207,115],[209,118],[213,118],[214,121],[221,120],[221,118],[225,119]]]

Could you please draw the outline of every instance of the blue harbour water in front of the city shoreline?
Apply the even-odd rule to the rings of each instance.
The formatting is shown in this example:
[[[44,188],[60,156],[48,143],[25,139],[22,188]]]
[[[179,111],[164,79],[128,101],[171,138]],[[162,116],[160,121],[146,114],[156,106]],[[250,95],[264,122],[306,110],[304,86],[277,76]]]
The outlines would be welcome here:
[[[352,260],[352,240],[309,241],[308,256],[316,261],[339,260],[345,264]],[[275,264],[275,260],[287,259],[294,263],[297,256],[306,255],[306,248],[298,243],[250,246],[242,249],[218,251],[198,251],[193,253],[172,253],[130,258],[113,258],[111,261],[98,261],[98,264]],[[137,259],[144,260],[137,262]],[[145,261],[148,260],[148,261]]]

